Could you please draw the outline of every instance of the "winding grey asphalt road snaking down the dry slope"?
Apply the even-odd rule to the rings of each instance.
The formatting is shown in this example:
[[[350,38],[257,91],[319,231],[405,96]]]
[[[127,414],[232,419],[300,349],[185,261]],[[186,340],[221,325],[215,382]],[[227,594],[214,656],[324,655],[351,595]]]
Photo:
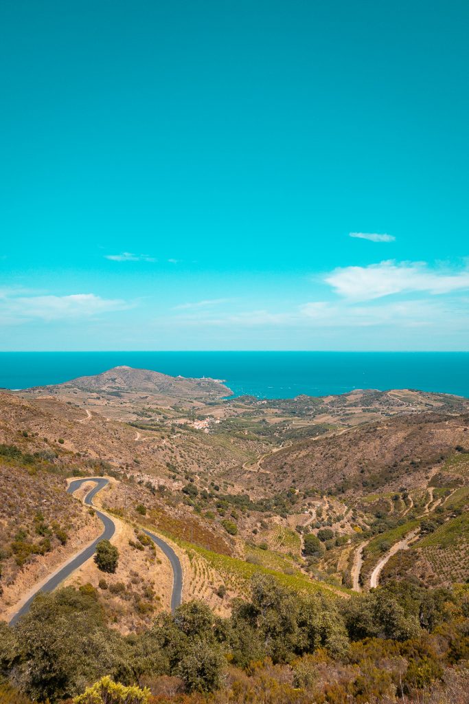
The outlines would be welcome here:
[[[109,484],[108,479],[105,479],[104,477],[84,477],[84,479],[74,479],[73,482],[70,482],[67,493],[68,494],[74,494],[77,489],[79,489],[82,484],[86,484],[86,482],[94,482],[96,486],[91,489],[91,491],[86,494],[84,498],[84,504],[87,506],[93,506],[93,499],[98,494],[98,491],[101,491],[107,484]],[[72,572],[75,572],[75,570],[78,569],[78,567],[81,567],[86,560],[89,560],[91,558],[95,551],[96,551],[96,546],[101,540],[109,540],[110,538],[113,537],[115,533],[115,522],[113,519],[106,515],[105,513],[102,513],[99,511],[97,508],[94,509],[96,511],[96,515],[98,518],[101,520],[104,530],[101,533],[101,535],[96,538],[89,546],[84,548],[81,552],[79,552],[77,555],[74,557],[70,558],[68,562],[65,563],[62,567],[59,567],[56,572],[53,572],[49,579],[46,579],[46,582],[41,584],[36,590],[34,590],[34,593],[25,601],[25,603],[21,606],[21,608],[13,615],[10,621],[10,625],[13,626],[18,619],[23,616],[25,613],[27,613],[30,610],[30,606],[32,604],[32,601],[34,598],[39,594],[39,592],[49,592],[53,591],[56,589],[56,587],[60,584],[60,582],[63,582],[64,579],[67,579],[67,577],[70,577],[70,574]],[[165,553],[166,557],[169,560],[169,563],[172,568],[173,572],[173,588],[172,588],[172,596],[171,596],[171,610],[174,611],[182,601],[182,568],[181,568],[181,562],[179,562],[179,558],[172,549],[171,546],[169,546],[167,543],[165,543],[164,540],[159,538],[153,533],[150,533],[148,530],[143,529],[144,532],[148,535],[150,539],[153,540],[156,545],[158,545],[159,548],[161,548],[162,552]]]

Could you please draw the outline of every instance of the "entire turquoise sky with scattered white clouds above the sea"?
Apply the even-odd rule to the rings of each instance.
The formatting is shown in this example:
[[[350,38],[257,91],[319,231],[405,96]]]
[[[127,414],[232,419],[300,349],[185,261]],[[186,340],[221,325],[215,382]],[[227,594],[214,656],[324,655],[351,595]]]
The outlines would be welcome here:
[[[0,349],[468,350],[465,0],[3,0]]]

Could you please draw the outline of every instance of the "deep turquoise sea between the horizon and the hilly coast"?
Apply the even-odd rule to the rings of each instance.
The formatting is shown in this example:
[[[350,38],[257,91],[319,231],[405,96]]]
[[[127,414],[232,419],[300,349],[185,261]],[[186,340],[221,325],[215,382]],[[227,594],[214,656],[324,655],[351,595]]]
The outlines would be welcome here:
[[[0,386],[58,384],[117,365],[224,379],[237,396],[410,388],[469,397],[469,352],[2,352]]]

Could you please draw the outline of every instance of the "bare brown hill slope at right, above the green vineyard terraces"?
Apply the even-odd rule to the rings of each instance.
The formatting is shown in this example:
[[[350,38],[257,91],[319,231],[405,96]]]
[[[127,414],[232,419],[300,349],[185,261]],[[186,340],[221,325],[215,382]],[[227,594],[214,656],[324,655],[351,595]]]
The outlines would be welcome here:
[[[301,441],[269,455],[261,467],[278,487],[364,494],[423,486],[456,446],[469,448],[468,426],[467,414],[397,416]]]

